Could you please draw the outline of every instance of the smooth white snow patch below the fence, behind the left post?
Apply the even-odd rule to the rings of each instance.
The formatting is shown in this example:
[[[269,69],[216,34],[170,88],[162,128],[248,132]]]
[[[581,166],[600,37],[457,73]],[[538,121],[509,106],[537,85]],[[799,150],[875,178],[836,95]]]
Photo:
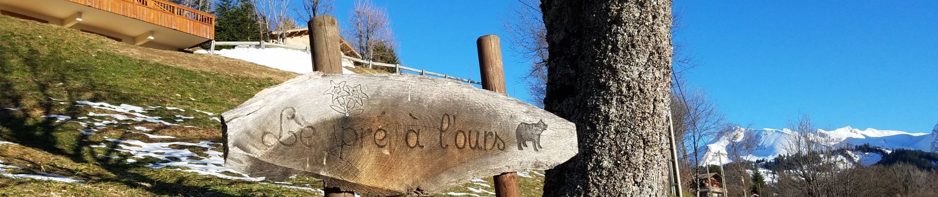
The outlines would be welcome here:
[[[196,50],[195,53],[207,54],[208,51],[200,49]],[[215,50],[215,54],[298,74],[312,72],[312,58],[310,54],[306,53],[306,51],[296,49],[261,49],[257,46],[237,46],[234,49]],[[342,74],[355,74],[355,72],[345,69],[345,67],[355,67],[354,64],[343,61]]]

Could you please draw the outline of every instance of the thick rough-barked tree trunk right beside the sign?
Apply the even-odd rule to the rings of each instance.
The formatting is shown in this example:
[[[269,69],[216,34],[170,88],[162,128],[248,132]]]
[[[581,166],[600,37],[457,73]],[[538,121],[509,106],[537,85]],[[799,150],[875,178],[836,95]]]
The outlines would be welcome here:
[[[545,109],[577,125],[580,153],[544,196],[665,196],[671,1],[543,0]]]

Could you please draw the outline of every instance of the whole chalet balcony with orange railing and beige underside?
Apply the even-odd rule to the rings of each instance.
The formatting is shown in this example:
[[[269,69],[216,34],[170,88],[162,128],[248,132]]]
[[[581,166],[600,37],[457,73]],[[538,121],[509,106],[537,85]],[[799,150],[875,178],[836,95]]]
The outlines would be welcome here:
[[[215,38],[214,15],[168,0],[0,0],[0,10],[156,49],[186,49]]]

